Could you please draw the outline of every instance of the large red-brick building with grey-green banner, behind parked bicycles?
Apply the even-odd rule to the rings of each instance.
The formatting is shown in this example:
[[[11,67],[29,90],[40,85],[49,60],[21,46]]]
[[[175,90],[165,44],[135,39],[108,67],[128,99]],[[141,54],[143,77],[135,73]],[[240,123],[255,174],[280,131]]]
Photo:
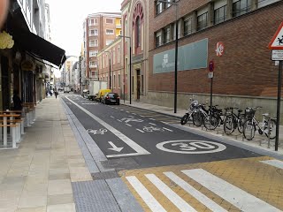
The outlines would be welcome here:
[[[149,92],[145,101],[173,106],[178,9],[178,108],[187,109],[191,95],[209,101],[208,64],[213,60],[214,103],[261,105],[274,114],[279,67],[267,46],[282,21],[283,1],[180,0],[176,4],[149,1]],[[216,53],[218,42],[225,47],[222,57]]]

